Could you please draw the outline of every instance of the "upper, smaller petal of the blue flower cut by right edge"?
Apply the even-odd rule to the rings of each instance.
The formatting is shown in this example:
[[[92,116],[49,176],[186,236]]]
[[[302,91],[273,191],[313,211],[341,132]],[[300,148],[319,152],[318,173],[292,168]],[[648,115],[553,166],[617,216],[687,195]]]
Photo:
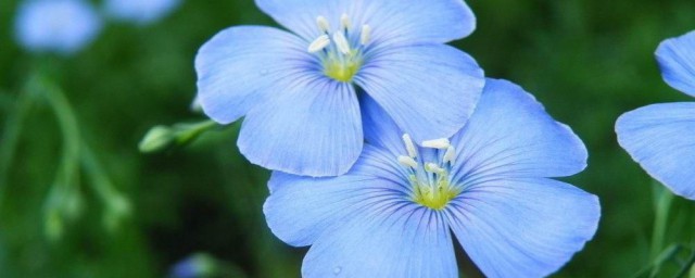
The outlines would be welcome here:
[[[665,40],[657,49],[656,58],[666,83],[695,96],[695,31]]]

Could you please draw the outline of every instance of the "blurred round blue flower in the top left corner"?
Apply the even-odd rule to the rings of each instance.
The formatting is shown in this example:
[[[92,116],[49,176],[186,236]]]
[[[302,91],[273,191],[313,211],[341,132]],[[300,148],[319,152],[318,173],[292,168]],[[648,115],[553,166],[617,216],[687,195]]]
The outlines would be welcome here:
[[[72,54],[91,42],[102,23],[81,0],[30,0],[20,7],[16,39],[31,52]]]

